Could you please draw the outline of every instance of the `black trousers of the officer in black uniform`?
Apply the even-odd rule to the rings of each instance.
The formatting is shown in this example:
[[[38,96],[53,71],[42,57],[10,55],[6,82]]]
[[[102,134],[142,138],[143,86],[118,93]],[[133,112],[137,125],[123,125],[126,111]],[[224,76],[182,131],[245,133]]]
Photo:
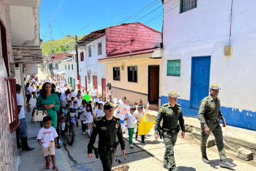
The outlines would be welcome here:
[[[113,150],[104,150],[104,148],[99,148],[99,158],[103,166],[103,171],[111,171],[114,159],[116,157],[116,148]]]

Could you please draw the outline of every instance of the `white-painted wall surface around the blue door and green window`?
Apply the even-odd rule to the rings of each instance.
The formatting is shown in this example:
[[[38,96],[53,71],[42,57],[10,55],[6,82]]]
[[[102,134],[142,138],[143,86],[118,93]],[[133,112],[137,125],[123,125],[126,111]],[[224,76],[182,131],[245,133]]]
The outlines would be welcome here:
[[[209,83],[218,83],[222,88],[222,107],[240,114],[245,110],[247,116],[255,117],[256,1],[233,1],[233,55],[229,57],[223,49],[229,44],[231,0],[198,0],[197,8],[181,14],[175,3],[179,4],[179,0],[164,5],[162,96],[176,90],[181,99],[190,101],[192,57],[210,55]],[[167,60],[181,60],[180,77],[166,76]]]

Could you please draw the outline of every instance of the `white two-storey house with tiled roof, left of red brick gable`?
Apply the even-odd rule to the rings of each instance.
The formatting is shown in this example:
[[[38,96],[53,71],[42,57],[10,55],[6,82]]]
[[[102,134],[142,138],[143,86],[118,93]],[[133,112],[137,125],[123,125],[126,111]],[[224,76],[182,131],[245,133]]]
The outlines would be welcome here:
[[[99,64],[98,59],[105,57],[105,29],[93,31],[79,41],[78,61],[81,89],[90,90],[92,86],[98,93],[106,94],[105,64]],[[77,63],[74,60],[74,69]],[[77,84],[77,77],[75,77]]]

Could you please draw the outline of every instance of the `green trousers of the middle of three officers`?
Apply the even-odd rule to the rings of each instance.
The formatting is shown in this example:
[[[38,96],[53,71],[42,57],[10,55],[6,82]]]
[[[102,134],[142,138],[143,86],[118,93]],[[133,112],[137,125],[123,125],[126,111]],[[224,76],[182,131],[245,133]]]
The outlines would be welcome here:
[[[170,170],[177,171],[175,164],[175,156],[173,147],[177,141],[178,133],[166,133],[164,132],[164,145],[166,146],[166,151],[164,152],[164,165],[170,164]]]

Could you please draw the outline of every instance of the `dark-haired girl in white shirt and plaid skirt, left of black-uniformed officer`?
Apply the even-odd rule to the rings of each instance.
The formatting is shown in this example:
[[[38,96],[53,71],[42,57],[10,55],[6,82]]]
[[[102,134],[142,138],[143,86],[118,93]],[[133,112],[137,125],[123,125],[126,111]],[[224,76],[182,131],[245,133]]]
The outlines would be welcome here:
[[[90,130],[93,128],[93,114],[92,114],[92,105],[86,105],[86,111],[84,112],[84,118],[82,121],[86,124],[86,130],[88,132],[88,137],[90,137]],[[84,133],[83,133],[84,134]]]

